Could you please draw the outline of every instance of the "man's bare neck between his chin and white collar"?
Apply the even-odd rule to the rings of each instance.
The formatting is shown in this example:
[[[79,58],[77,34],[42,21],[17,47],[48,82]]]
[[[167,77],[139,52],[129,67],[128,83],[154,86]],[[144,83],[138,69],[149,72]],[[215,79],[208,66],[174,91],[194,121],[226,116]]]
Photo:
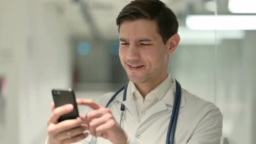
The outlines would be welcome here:
[[[136,83],[135,86],[140,92],[141,96],[145,99],[146,95],[153,91],[158,85],[160,85],[167,78],[168,74],[161,75],[160,77],[156,77],[150,79],[146,82]]]

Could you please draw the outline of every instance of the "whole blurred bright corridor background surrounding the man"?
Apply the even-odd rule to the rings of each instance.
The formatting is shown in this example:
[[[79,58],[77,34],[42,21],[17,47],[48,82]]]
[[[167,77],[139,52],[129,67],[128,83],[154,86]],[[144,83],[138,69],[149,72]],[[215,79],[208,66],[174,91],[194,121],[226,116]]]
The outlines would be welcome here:
[[[0,0],[0,144],[43,144],[52,88],[97,98],[128,82],[115,18],[131,0]],[[256,143],[256,1],[162,0],[180,23],[171,75]]]

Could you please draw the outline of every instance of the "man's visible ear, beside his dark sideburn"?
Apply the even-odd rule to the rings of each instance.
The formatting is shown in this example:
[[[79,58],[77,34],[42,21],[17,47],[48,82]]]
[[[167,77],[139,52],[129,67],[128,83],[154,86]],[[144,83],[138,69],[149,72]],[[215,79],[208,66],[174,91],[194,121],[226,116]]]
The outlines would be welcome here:
[[[167,46],[167,54],[171,55],[175,49],[177,49],[177,46],[180,43],[180,36],[176,33],[173,36],[170,37],[170,39],[168,39],[166,46]]]

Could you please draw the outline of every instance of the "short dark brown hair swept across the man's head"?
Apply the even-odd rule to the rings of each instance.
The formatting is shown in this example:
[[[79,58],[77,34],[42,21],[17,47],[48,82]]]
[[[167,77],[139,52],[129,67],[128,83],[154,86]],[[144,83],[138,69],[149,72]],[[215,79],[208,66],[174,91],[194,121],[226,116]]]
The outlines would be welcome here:
[[[178,21],[175,14],[160,0],[134,0],[126,5],[118,17],[116,24],[118,32],[124,21],[135,21],[140,19],[155,20],[164,44],[178,32]]]

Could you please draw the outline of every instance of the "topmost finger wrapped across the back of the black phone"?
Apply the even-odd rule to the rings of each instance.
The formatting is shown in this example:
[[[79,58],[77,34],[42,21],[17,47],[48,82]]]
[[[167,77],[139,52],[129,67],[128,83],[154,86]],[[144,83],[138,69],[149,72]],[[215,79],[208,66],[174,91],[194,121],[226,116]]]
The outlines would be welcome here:
[[[52,115],[50,116],[50,121],[53,124],[57,124],[60,116],[68,114],[69,112],[73,111],[73,109],[74,106],[72,104],[62,105],[55,108],[52,112]]]

